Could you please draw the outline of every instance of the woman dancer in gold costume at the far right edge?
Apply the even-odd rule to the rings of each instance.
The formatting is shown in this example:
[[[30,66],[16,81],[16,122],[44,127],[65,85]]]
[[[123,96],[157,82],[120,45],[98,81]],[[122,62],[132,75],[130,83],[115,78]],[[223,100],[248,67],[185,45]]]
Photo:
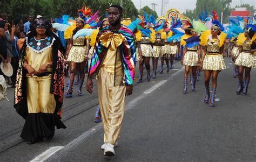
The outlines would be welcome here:
[[[251,53],[251,45],[254,40],[253,36],[255,32],[251,27],[245,29],[245,40],[242,42],[242,46],[239,49],[237,60],[235,60],[235,66],[238,67],[238,90],[237,95],[247,95],[248,86],[251,78],[251,69],[254,67],[253,54]],[[255,39],[255,38],[254,38]],[[245,73],[245,77],[244,77]],[[244,81],[243,81],[244,78]]]

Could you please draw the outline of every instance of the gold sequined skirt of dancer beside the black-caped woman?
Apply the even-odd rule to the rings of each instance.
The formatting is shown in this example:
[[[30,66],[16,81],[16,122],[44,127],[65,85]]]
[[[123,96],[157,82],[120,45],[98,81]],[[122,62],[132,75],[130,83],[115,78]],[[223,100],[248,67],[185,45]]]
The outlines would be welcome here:
[[[84,62],[85,51],[85,46],[72,46],[69,52],[69,57],[66,61],[77,63]]]

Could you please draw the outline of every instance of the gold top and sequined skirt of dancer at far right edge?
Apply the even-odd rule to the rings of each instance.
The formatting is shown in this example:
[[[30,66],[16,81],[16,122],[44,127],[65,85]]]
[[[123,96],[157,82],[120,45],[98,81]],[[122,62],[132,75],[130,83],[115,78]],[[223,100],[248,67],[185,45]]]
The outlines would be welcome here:
[[[251,54],[250,41],[245,41],[242,44],[242,52],[238,55],[235,60],[236,66],[252,67],[254,64],[253,56]]]

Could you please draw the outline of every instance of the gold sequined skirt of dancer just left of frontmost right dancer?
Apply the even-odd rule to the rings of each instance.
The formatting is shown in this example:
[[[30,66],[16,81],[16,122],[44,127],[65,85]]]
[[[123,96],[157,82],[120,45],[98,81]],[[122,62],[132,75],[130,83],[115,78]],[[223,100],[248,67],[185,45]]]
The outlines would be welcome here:
[[[199,66],[197,51],[187,51],[183,58],[185,66]]]

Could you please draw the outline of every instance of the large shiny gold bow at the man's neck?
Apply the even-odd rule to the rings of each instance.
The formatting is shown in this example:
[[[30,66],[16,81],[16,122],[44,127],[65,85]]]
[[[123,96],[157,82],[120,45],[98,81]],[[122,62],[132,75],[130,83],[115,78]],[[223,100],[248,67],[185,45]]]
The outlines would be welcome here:
[[[122,34],[112,32],[105,32],[99,37],[103,46],[106,48],[110,47],[111,51],[116,50],[123,43],[124,39],[125,37]]]

